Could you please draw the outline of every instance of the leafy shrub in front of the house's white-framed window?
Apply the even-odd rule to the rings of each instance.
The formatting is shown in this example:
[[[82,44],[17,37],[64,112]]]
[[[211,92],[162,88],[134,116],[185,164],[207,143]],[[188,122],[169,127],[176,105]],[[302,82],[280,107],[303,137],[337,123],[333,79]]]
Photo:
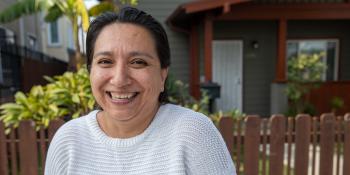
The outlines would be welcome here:
[[[311,89],[319,87],[322,75],[327,66],[322,62],[320,54],[301,54],[297,58],[288,60],[288,83],[286,94],[290,101],[287,115],[298,113],[315,113],[314,107],[303,98]]]

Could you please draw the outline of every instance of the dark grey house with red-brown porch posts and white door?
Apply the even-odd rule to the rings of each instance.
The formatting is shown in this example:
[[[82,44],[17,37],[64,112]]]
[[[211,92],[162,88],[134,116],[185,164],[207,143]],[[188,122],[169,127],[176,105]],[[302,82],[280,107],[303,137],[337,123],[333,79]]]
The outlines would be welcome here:
[[[350,111],[348,0],[149,0],[138,7],[168,24],[172,69],[192,95],[199,97],[203,82],[221,85],[218,109],[283,113],[287,60],[318,50],[328,69],[309,100],[322,113],[341,97],[342,112]]]

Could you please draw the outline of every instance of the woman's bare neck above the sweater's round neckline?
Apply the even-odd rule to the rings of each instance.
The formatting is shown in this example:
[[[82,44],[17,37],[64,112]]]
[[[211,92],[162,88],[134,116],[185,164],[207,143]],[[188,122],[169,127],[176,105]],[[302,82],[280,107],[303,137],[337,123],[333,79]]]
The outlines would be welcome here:
[[[130,120],[117,120],[108,116],[105,111],[101,111],[97,114],[97,121],[103,132],[112,138],[130,138],[141,134],[151,124],[155,117],[159,105],[157,105],[152,111],[143,113]]]

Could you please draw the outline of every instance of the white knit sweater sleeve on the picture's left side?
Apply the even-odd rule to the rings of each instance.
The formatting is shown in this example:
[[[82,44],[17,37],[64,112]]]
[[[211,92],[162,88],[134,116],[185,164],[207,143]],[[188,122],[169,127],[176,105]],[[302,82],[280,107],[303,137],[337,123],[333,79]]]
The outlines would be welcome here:
[[[67,147],[67,127],[62,126],[53,137],[45,162],[45,175],[67,174],[69,151]]]

